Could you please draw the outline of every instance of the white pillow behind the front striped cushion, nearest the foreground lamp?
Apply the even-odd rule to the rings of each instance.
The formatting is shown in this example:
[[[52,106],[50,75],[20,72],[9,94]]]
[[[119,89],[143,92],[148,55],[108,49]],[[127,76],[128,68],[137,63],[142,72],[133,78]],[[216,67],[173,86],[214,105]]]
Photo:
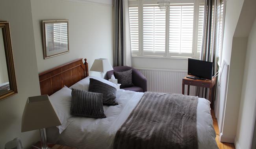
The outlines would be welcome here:
[[[59,129],[59,134],[61,134],[62,131],[69,126],[70,122],[72,122],[72,120],[68,120],[72,117],[70,114],[71,92],[72,90],[65,86],[50,96],[50,102],[55,107],[59,120],[62,124],[60,126],[56,126]]]

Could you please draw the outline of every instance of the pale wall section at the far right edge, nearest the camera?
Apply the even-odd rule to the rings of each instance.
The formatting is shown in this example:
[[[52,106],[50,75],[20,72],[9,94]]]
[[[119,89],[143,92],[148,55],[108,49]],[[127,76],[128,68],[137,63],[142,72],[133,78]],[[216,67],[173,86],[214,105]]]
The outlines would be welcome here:
[[[236,148],[249,149],[256,110],[256,18],[248,37],[243,87],[236,133]]]

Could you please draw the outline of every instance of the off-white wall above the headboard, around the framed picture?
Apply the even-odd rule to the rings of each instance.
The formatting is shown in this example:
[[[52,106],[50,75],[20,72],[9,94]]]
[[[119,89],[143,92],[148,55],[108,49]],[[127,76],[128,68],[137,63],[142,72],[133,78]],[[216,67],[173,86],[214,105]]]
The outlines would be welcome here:
[[[31,5],[38,72],[77,58],[87,58],[89,69],[96,58],[113,64],[113,5],[75,0],[31,0]],[[44,60],[41,20],[47,19],[69,20],[70,52]]]

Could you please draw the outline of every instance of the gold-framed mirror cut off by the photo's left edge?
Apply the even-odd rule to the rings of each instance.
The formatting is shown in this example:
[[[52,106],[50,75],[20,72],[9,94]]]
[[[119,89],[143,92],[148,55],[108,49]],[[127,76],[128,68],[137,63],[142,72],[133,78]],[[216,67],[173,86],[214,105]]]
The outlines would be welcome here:
[[[0,100],[17,93],[10,25],[0,21]]]

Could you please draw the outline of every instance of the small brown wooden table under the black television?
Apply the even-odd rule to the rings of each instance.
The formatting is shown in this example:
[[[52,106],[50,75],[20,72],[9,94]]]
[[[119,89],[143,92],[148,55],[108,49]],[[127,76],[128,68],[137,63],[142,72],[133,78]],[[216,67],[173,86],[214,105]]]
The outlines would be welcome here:
[[[182,94],[184,94],[185,85],[187,85],[187,95],[189,95],[190,85],[209,88],[208,100],[211,102],[212,94],[215,91],[215,84],[216,84],[216,77],[212,78],[212,80],[194,80],[194,79],[184,77],[182,79]]]

